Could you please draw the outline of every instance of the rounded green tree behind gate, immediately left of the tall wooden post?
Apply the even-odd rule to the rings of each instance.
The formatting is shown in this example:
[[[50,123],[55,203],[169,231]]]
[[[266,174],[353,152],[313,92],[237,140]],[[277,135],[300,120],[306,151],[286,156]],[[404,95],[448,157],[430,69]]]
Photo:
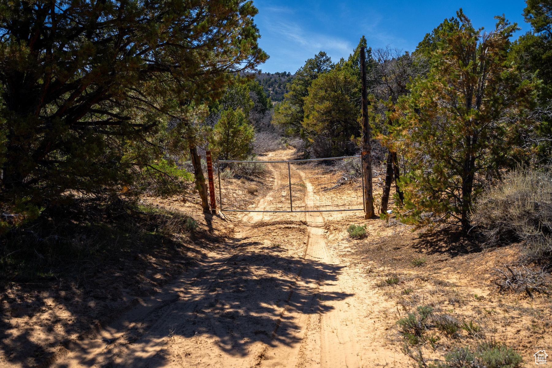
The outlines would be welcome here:
[[[316,157],[354,154],[354,138],[360,136],[360,81],[351,68],[321,74],[305,98],[304,134],[312,143],[325,139],[329,150],[314,150]]]

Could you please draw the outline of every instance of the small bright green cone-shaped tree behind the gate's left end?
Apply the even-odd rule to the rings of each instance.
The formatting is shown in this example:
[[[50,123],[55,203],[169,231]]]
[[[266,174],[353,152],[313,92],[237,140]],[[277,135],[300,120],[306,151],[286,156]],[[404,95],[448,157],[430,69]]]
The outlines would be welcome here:
[[[212,149],[215,157],[243,160],[253,150],[255,131],[241,109],[224,110],[214,129]]]

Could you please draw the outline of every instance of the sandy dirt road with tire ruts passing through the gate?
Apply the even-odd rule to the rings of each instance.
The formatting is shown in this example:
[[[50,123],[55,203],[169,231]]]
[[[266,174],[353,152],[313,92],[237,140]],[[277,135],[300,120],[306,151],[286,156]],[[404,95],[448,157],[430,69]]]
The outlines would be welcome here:
[[[282,178],[273,172],[277,188]],[[305,203],[313,193],[307,181]],[[367,342],[373,301],[328,248],[321,212],[236,213],[224,250],[94,339],[69,346],[53,366],[334,368],[385,365],[400,355],[367,353],[379,345]]]

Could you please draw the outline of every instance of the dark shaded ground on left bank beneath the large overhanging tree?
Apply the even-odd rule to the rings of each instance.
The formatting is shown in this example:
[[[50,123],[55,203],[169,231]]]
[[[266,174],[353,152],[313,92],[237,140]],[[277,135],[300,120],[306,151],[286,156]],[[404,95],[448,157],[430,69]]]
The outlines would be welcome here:
[[[155,295],[219,247],[206,229],[175,236],[184,222],[172,214],[132,209],[105,220],[97,207],[65,210],[3,239],[0,366],[45,366],[60,344],[119,316],[136,297]]]

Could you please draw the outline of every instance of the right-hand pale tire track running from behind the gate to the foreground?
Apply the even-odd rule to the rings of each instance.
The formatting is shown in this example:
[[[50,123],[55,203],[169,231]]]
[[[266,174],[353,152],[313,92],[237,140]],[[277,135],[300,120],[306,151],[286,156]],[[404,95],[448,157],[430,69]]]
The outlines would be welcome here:
[[[305,175],[301,173],[302,179]],[[312,183],[306,179],[307,210],[314,209],[316,202]],[[312,275],[306,279],[316,279],[316,285],[309,285],[312,298],[305,302],[302,310],[286,311],[294,319],[301,332],[296,335],[295,344],[280,344],[267,351],[261,367],[354,367],[362,366],[361,348],[357,343],[358,331],[355,321],[359,318],[353,305],[354,290],[345,290],[339,276],[339,263],[331,257],[324,236],[324,218],[322,212],[306,212],[309,241],[305,251],[305,260],[320,262],[333,270],[332,274],[309,270]],[[317,274],[314,274],[317,273]],[[325,301],[325,296],[341,295]],[[292,296],[293,298],[293,296]],[[317,312],[317,313],[314,313]]]

